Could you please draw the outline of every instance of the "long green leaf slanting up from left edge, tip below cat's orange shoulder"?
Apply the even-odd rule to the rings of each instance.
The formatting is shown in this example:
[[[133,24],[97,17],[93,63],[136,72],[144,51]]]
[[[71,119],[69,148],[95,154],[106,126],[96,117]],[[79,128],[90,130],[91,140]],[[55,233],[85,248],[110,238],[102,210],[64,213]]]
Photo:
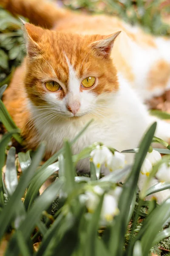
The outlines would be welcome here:
[[[1,147],[0,147],[1,150]],[[38,148],[34,158],[32,160],[31,166],[29,166],[27,172],[23,173],[20,177],[20,181],[18,183],[17,188],[15,189],[14,193],[11,195],[8,204],[4,207],[3,211],[0,212],[0,239],[2,239],[8,224],[10,223],[11,219],[14,217],[18,202],[21,200],[21,197],[24,195],[24,192],[29,185],[31,178],[37,169],[40,160],[45,151],[45,145],[41,144]],[[1,155],[1,154],[0,154]]]

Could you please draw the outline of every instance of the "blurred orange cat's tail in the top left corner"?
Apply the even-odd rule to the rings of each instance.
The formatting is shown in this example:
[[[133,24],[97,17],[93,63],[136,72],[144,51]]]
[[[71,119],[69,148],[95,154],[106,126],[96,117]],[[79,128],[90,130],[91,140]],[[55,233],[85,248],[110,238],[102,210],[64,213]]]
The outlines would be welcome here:
[[[31,23],[48,29],[70,14],[68,10],[60,9],[56,3],[45,0],[0,0],[0,6],[14,15],[27,17]]]

